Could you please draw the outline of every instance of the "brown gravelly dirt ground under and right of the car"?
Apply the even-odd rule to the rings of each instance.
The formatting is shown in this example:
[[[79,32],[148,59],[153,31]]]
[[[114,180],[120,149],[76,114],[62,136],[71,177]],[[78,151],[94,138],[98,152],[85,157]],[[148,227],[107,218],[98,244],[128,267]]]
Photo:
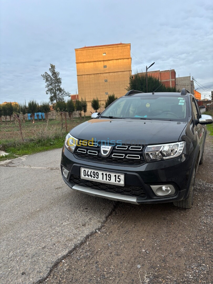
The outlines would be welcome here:
[[[41,283],[208,283],[212,273],[213,139],[207,137],[190,210],[117,202],[105,224]]]

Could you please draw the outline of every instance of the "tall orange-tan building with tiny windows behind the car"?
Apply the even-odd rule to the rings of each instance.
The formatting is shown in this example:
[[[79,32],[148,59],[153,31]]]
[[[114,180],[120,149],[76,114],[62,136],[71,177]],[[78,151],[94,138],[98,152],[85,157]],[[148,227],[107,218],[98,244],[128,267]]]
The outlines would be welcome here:
[[[87,113],[94,111],[91,101],[98,97],[100,103],[114,93],[126,93],[131,75],[130,43],[85,46],[75,49],[79,99],[86,98]]]

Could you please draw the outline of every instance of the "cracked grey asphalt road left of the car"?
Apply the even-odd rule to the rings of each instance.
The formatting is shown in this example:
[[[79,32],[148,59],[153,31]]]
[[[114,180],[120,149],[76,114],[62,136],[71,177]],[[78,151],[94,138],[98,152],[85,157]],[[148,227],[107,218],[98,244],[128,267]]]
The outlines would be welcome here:
[[[34,283],[101,226],[114,202],[62,181],[61,149],[0,162],[0,283]]]

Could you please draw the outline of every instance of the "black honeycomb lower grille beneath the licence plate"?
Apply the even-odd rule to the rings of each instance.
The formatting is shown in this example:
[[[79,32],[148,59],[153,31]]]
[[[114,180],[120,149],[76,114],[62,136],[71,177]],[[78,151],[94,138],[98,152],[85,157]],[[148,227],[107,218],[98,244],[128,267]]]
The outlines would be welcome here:
[[[139,186],[133,186],[133,185],[119,186],[119,185],[106,184],[106,183],[81,179],[80,176],[76,175],[70,176],[70,183],[72,185],[82,185],[93,189],[98,189],[101,191],[128,195],[141,199],[146,198],[145,192],[143,191],[142,187]]]

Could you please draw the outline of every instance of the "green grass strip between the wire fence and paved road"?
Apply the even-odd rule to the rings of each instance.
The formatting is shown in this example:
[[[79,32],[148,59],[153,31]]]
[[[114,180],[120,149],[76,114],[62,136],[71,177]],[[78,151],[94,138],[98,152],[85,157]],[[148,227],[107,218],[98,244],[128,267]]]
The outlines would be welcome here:
[[[1,156],[0,161],[17,158],[23,155],[35,154],[42,151],[62,148],[64,145],[64,137],[47,140],[32,140],[16,145],[15,143],[7,143],[2,145],[2,150],[9,153],[7,156]]]

